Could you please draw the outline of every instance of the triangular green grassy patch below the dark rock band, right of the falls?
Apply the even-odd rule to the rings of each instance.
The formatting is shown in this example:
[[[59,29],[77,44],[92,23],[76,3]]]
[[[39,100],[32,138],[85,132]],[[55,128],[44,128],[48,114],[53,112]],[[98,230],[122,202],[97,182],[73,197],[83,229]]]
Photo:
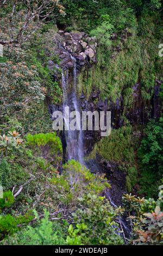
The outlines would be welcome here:
[[[109,137],[104,137],[96,143],[91,154],[87,157],[95,159],[96,154],[109,162],[116,163],[118,169],[127,173],[126,186],[128,192],[137,181],[133,133],[131,126],[123,126],[112,130]]]

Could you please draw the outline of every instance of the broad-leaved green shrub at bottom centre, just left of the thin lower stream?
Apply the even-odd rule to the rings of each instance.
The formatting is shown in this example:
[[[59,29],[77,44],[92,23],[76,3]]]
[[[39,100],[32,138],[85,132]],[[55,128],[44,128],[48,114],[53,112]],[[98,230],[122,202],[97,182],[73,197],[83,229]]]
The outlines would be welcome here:
[[[72,215],[76,226],[84,223],[82,233],[85,235],[80,237],[84,245],[122,245],[123,240],[117,234],[118,225],[114,221],[116,212],[109,202],[90,193],[79,201],[81,208]]]

